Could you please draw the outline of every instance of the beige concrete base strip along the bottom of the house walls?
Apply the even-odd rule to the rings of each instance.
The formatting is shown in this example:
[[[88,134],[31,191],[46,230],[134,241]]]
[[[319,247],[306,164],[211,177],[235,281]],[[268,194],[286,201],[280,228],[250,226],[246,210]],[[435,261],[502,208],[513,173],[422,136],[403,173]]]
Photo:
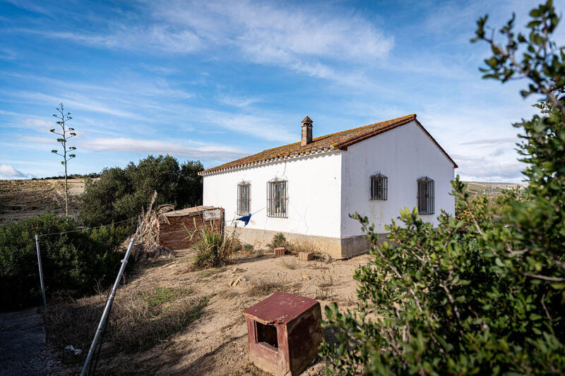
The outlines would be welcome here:
[[[248,227],[226,226],[227,234],[236,231],[236,236],[243,243],[265,248],[273,240],[273,236],[281,232],[289,243],[309,245],[319,253],[325,253],[333,258],[347,258],[369,252],[371,245],[362,235],[347,238],[332,238],[330,236],[315,236],[294,234],[284,231],[250,229]],[[386,234],[379,234],[379,242],[386,240]]]

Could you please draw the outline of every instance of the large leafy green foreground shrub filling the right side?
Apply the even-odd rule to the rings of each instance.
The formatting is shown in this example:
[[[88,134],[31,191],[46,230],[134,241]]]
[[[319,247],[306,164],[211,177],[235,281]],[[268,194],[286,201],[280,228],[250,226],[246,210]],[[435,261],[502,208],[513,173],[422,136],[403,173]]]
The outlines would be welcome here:
[[[499,205],[471,200],[457,178],[453,192],[465,217],[423,222],[400,213],[379,246],[367,217],[359,217],[373,246],[371,262],[355,272],[357,309],[326,307],[337,346],[321,351],[328,370],[345,375],[486,375],[565,373],[565,53],[548,40],[559,18],[551,1],[534,9],[528,38],[502,28],[506,47],[492,44],[484,72],[501,81],[530,78],[528,91],[546,95],[543,115],[515,124],[529,185]],[[518,45],[523,60],[517,62]]]

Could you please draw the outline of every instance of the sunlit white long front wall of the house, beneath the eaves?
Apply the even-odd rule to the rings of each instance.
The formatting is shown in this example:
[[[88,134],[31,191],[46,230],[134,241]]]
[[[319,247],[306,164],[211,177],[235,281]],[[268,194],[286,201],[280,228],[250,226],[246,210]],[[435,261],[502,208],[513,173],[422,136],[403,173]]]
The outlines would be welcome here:
[[[288,182],[288,218],[267,217],[267,182],[275,177]],[[203,205],[223,207],[227,226],[239,217],[237,184],[241,181],[251,183],[251,213],[261,210],[251,216],[247,228],[340,237],[340,152],[204,176]]]

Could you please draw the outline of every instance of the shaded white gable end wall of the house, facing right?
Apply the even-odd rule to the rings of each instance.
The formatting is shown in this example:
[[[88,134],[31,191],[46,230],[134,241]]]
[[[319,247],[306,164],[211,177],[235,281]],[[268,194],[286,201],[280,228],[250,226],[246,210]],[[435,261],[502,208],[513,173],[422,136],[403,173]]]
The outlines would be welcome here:
[[[377,233],[396,219],[400,209],[417,206],[417,178],[429,176],[435,181],[435,212],[422,216],[437,224],[441,209],[454,214],[451,192],[453,164],[417,126],[408,123],[391,131],[350,146],[343,152],[343,189],[341,195],[341,236],[362,234],[350,213],[366,215]],[[388,200],[370,200],[370,176],[377,172],[388,176]]]

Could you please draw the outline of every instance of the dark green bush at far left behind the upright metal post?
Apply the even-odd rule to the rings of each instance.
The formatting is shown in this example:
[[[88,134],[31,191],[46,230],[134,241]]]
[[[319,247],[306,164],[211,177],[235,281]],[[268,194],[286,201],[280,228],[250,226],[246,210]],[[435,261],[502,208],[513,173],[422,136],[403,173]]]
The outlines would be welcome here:
[[[35,234],[74,231],[73,219],[54,213],[0,225],[0,306],[3,310],[40,303]],[[121,226],[40,236],[47,296],[80,296],[111,284],[123,256],[117,247],[128,235]]]

